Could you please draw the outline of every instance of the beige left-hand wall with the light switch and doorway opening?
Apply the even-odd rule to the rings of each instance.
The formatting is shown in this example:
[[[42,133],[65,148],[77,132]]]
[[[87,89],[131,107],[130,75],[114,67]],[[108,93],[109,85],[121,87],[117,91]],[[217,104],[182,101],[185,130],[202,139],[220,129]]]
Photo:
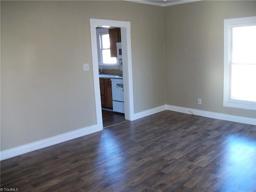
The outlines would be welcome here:
[[[96,124],[90,18],[131,22],[134,112],[165,104],[162,11],[125,1],[1,1],[1,151]]]

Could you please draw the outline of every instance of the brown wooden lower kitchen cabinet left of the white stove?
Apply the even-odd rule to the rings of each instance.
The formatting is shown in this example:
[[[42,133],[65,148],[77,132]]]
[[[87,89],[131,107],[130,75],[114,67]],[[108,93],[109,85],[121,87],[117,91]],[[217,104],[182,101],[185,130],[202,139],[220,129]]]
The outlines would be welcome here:
[[[102,108],[113,109],[111,79],[100,78],[100,98]]]

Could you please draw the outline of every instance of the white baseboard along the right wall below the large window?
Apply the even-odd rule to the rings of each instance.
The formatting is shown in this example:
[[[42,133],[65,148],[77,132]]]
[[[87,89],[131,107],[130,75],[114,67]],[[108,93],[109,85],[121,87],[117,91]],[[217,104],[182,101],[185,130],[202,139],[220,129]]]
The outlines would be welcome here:
[[[198,109],[190,109],[190,108],[173,106],[173,105],[167,105],[166,110],[176,111],[176,112],[181,112],[181,113],[186,113],[186,114],[191,114],[189,112],[189,111],[191,111],[192,114],[198,115],[198,116],[203,116],[203,117],[208,117],[208,118],[213,118],[213,119],[226,120],[226,121],[232,121],[232,122],[238,122],[238,123],[244,123],[244,124],[250,124],[250,125],[256,125],[256,119],[255,118],[228,115],[228,114],[216,113],[216,112],[210,112],[210,111],[204,111],[204,110],[198,110]]]

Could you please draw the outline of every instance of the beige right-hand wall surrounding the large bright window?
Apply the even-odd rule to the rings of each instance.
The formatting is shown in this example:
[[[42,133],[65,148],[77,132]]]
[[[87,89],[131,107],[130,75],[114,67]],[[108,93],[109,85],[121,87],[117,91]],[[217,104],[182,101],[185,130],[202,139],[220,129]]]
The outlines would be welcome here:
[[[223,20],[255,15],[256,1],[199,1],[164,8],[167,104],[256,117],[253,110],[222,106]]]

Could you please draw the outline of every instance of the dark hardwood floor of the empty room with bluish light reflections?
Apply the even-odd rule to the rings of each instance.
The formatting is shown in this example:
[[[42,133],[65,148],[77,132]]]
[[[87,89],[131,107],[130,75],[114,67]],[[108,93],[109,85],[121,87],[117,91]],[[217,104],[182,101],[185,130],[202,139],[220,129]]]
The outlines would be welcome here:
[[[3,160],[1,188],[255,192],[256,126],[163,111]]]

